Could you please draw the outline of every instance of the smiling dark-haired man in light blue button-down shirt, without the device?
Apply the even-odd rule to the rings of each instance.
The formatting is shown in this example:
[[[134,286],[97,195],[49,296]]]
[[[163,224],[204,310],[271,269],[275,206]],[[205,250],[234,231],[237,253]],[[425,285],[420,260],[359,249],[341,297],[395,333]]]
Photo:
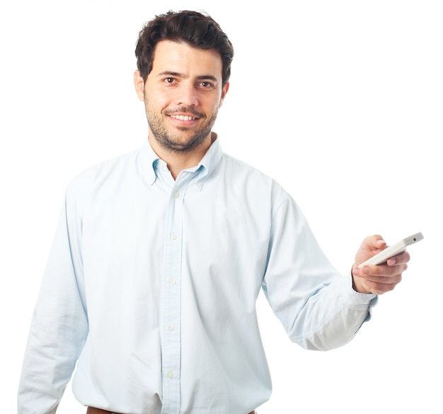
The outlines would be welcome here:
[[[290,339],[352,339],[407,252],[364,239],[340,276],[270,177],[224,154],[212,126],[229,90],[229,39],[209,16],[156,16],[139,34],[134,85],[146,145],[67,188],[35,308],[20,414],[55,413],[65,386],[88,413],[247,414],[270,396],[255,301]]]

